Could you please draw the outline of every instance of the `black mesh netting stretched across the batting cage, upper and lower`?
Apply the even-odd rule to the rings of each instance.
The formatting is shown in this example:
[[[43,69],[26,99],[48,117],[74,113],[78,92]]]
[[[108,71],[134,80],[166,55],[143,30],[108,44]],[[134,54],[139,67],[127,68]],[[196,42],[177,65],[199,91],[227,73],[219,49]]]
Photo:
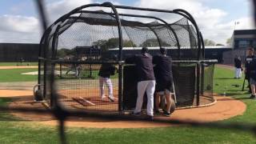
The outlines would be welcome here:
[[[158,18],[148,18],[150,21],[143,22],[139,21],[139,18],[130,18],[131,15],[120,15],[122,49],[132,48],[130,54],[135,54],[135,50],[142,46],[147,46],[150,50],[162,46],[166,47],[168,54],[172,53],[173,59],[198,58],[198,37],[186,18],[166,24]],[[48,102],[51,102],[50,82],[54,81],[54,90],[59,95],[58,101],[68,109],[118,112],[120,107],[123,110],[130,110],[134,106],[133,100],[136,98],[132,100],[132,95],[136,90],[134,94],[129,95],[130,77],[126,77],[127,71],[124,71],[125,75],[122,77],[122,70],[118,70],[120,67],[127,67],[118,63],[118,22],[113,13],[80,11],[71,14],[70,17],[50,26],[42,38],[41,46],[42,58],[50,59],[40,62],[42,73],[39,76],[40,82],[44,84],[42,88]],[[103,80],[99,76],[99,71],[104,62],[112,62],[120,73]],[[195,105],[195,71],[195,66],[191,65],[174,66],[178,106]],[[52,75],[54,78],[50,79]],[[103,86],[105,89],[101,90]],[[109,87],[111,88],[108,89]],[[106,98],[103,98],[102,94]]]

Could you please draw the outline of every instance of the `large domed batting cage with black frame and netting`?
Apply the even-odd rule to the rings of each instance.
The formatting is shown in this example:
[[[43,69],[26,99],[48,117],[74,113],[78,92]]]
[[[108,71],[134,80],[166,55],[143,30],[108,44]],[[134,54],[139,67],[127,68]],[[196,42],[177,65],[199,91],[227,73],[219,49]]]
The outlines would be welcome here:
[[[173,59],[177,107],[214,102],[215,61],[204,59],[202,34],[186,10],[110,2],[80,6],[48,27],[40,42],[37,98],[68,110],[133,110],[138,81],[124,60],[142,46],[152,55],[165,47]]]

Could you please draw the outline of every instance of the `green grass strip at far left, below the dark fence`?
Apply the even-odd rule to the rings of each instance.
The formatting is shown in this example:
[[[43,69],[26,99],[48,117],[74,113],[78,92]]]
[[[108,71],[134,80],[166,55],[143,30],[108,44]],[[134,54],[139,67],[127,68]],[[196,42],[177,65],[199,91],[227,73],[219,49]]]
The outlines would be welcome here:
[[[10,69],[0,70],[0,82],[31,82],[36,81],[38,75],[24,75],[22,73],[37,71],[38,69]]]

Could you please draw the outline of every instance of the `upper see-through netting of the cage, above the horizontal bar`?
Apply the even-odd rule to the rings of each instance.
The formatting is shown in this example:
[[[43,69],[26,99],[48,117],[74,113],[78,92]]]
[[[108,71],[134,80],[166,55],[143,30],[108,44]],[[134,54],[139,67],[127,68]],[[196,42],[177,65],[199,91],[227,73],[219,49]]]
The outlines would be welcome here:
[[[83,12],[79,17],[73,16],[62,22],[58,30],[58,50],[94,45],[102,46],[102,49],[106,46],[108,49],[118,48],[118,28],[113,14],[100,13]],[[169,26],[154,19],[154,22],[142,23],[129,21],[129,17],[126,16],[122,18],[123,47],[149,46],[157,49],[161,45],[170,50],[177,50],[179,42],[181,49],[197,48],[196,34],[186,18]],[[197,58],[198,54],[197,50],[183,53],[182,59]],[[174,57],[178,57],[178,54]]]

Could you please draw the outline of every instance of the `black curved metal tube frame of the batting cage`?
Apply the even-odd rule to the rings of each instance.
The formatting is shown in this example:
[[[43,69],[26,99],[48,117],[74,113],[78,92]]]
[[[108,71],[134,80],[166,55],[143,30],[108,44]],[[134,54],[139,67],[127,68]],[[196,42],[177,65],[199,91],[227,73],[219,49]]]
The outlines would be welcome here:
[[[90,8],[90,7],[108,7],[111,10],[113,10],[114,13],[102,13],[102,12],[98,12],[98,11],[90,11],[90,10],[84,10],[86,8]],[[202,34],[200,32],[200,30],[198,29],[198,25],[195,22],[193,16],[188,13],[186,10],[182,10],[182,9],[176,9],[176,10],[159,10],[159,9],[152,9],[152,8],[142,8],[142,7],[133,7],[133,6],[118,6],[118,5],[114,5],[111,2],[104,2],[102,4],[98,4],[98,3],[93,3],[93,4],[88,4],[88,5],[84,5],[84,6],[80,6],[74,10],[71,10],[68,14],[63,15],[61,18],[58,18],[51,26],[49,26],[44,34],[42,35],[42,39],[40,41],[40,47],[39,47],[39,58],[38,58],[38,90],[43,89],[43,98],[46,97],[46,81],[50,82],[50,103],[51,106],[54,106],[57,102],[58,102],[58,94],[54,94],[54,65],[56,63],[58,63],[59,61],[54,59],[54,55],[52,55],[51,57],[48,57],[48,44],[49,44],[49,39],[50,39],[50,34],[52,34],[52,26],[56,26],[57,28],[54,30],[54,38],[53,38],[53,42],[51,42],[52,44],[52,49],[51,49],[51,53],[52,54],[56,54],[54,52],[54,49],[57,45],[58,45],[58,30],[61,28],[61,24],[62,22],[64,22],[67,18],[78,18],[78,17],[72,17],[72,14],[78,14],[81,12],[84,13],[94,13],[94,14],[110,14],[113,16],[113,18],[116,21],[117,27],[118,27],[118,61],[114,62],[114,64],[118,64],[118,69],[120,70],[118,73],[118,86],[122,87],[122,65],[123,65],[123,61],[122,61],[122,47],[123,47],[123,43],[122,43],[122,22],[119,18],[119,16],[127,16],[127,17],[136,17],[136,18],[153,18],[155,20],[159,20],[161,22],[164,23],[164,25],[173,32],[174,34],[174,38],[177,42],[177,49],[178,49],[178,60],[181,60],[180,62],[182,62],[182,59],[180,59],[180,55],[181,55],[181,46],[179,44],[178,41],[178,36],[175,33],[175,31],[169,26],[168,22],[164,21],[162,18],[157,18],[154,16],[148,16],[148,15],[139,15],[139,14],[119,14],[118,10],[139,10],[139,11],[152,11],[152,12],[158,12],[158,13],[167,13],[167,14],[178,14],[180,16],[182,16],[183,18],[186,18],[190,21],[190,23],[194,26],[195,31],[196,31],[196,35],[197,35],[197,48],[198,48],[198,54],[197,54],[197,60],[195,61],[184,61],[185,63],[189,62],[189,63],[196,63],[197,65],[197,71],[196,74],[200,77],[196,78],[196,98],[197,98],[197,106],[199,106],[199,97],[200,97],[200,92],[202,93],[203,89],[201,88],[200,90],[200,83],[201,86],[203,86],[203,78],[204,78],[204,67],[203,64],[204,63],[211,63],[211,62],[216,62],[216,61],[207,61],[204,60],[204,52],[205,52],[205,46],[204,46],[204,42],[203,42],[203,38],[202,38]],[[148,28],[150,29],[150,27],[148,26]],[[152,30],[152,29],[150,29]],[[154,32],[154,30],[152,30],[152,32],[155,34],[156,38],[158,38],[158,34],[156,34]],[[158,38],[158,44],[161,47],[161,42]],[[43,52],[43,54],[42,54]],[[43,57],[45,56],[45,57]],[[43,74],[43,82],[42,83],[42,79],[41,79],[41,69],[42,69],[42,63],[43,63],[43,67],[44,67],[44,74]],[[71,62],[72,63],[72,62]],[[99,64],[98,62],[92,62],[94,64]],[[102,62],[101,62],[102,63]],[[86,64],[88,64],[88,62],[86,62]],[[51,77],[47,78],[46,77],[46,66],[51,66]],[[201,71],[200,71],[201,70]],[[200,82],[201,81],[201,82]],[[122,111],[122,89],[118,89],[118,111]]]

